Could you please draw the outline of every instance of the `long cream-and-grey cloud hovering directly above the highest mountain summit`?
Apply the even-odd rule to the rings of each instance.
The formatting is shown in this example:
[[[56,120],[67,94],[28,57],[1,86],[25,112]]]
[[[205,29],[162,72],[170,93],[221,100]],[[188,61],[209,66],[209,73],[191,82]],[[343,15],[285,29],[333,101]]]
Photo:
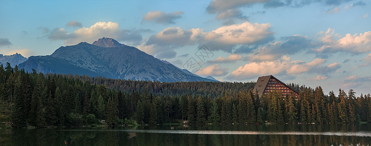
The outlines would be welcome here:
[[[101,37],[111,37],[117,41],[137,43],[142,40],[139,30],[120,29],[117,22],[97,22],[90,28],[80,28],[68,33],[64,28],[55,28],[52,31],[39,27],[52,40],[64,40],[66,45],[75,45],[79,42],[92,43]]]

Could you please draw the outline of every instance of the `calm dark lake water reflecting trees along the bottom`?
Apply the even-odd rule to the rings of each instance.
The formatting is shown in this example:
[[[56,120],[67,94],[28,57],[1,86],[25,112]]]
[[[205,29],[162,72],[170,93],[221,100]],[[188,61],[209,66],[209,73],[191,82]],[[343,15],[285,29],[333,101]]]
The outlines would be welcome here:
[[[0,129],[0,146],[371,146],[371,125]]]

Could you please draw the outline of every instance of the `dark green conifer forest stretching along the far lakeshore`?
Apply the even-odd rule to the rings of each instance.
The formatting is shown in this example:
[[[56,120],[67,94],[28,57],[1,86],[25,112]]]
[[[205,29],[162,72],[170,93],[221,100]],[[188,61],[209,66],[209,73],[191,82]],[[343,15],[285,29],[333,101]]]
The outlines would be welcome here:
[[[371,96],[288,84],[300,97],[273,91],[258,97],[254,82],[157,82],[72,74],[26,73],[0,65],[0,122],[12,128],[109,127],[180,123],[371,123]],[[4,121],[5,120],[5,121]],[[6,121],[8,120],[8,121]]]

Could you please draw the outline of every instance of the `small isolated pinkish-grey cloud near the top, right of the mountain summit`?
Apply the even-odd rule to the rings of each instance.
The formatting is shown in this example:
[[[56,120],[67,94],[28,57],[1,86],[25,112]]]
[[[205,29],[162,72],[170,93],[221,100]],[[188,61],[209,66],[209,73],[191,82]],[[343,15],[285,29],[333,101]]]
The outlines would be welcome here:
[[[182,18],[182,11],[176,11],[172,13],[165,13],[161,11],[151,11],[143,15],[142,23],[144,21],[154,21],[159,24],[175,24],[175,20]]]

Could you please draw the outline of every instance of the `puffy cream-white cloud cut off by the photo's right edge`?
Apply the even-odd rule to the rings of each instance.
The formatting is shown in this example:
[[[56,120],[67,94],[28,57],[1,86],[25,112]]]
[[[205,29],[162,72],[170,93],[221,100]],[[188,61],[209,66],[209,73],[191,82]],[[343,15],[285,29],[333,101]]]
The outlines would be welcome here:
[[[371,31],[363,34],[346,34],[344,37],[341,37],[338,34],[334,34],[334,30],[329,28],[326,33],[320,32],[319,35],[323,36],[317,39],[321,47],[313,50],[316,54],[335,52],[361,54],[371,51]]]

